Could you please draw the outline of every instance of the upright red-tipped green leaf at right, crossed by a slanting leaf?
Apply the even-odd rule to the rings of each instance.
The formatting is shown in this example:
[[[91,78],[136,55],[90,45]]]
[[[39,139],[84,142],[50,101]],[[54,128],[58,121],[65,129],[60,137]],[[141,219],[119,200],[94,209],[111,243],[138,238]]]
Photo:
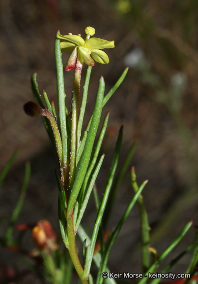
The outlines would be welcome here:
[[[131,182],[134,192],[138,192],[139,187],[136,182],[136,174],[134,167],[131,169]],[[148,249],[150,247],[150,227],[142,195],[139,195],[138,197],[138,207],[141,218],[141,265],[142,273],[144,274],[150,266],[150,251]]]

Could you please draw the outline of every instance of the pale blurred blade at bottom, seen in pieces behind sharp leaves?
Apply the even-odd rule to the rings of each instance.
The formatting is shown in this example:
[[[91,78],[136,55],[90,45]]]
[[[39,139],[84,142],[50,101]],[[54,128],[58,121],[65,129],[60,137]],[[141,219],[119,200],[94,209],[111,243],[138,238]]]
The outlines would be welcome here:
[[[77,231],[77,234],[79,236],[79,238],[81,239],[82,243],[84,242],[84,240],[86,239],[86,245],[90,245],[90,238],[89,236],[86,234],[84,228],[82,227],[82,225],[80,224],[79,225],[79,228],[78,228],[78,231]],[[100,252],[97,252],[93,255],[93,261],[96,265],[97,268],[100,267],[100,262],[101,262],[101,254]],[[106,271],[109,273],[110,270],[107,268]],[[116,284],[115,280],[113,278],[107,278],[106,280],[106,283],[107,284]]]

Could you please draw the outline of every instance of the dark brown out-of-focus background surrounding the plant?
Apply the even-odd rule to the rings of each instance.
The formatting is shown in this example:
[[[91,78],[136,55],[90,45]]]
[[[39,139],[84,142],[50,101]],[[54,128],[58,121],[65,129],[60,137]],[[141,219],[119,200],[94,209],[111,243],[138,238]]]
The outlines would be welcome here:
[[[19,196],[24,165],[31,162],[31,179],[19,222],[49,219],[56,231],[57,162],[40,118],[27,117],[23,105],[32,100],[30,76],[37,72],[40,92],[57,101],[54,41],[62,35],[81,34],[92,26],[96,37],[115,41],[107,50],[110,63],[92,69],[87,102],[88,121],[103,75],[106,94],[126,67],[128,74],[105,106],[110,110],[106,159],[97,186],[102,192],[108,175],[118,131],[124,125],[120,168],[135,135],[140,142],[131,166],[135,166],[151,226],[152,244],[159,252],[181,228],[193,220],[198,224],[198,1],[197,0],[0,0],[0,169],[15,149],[18,158],[0,191],[1,231]],[[66,65],[69,54],[63,54]],[[85,78],[86,66],[83,69]],[[73,71],[65,71],[66,104],[69,106]],[[113,229],[133,191],[130,170],[118,193]],[[94,205],[88,208],[87,229],[94,221]],[[164,221],[166,218],[166,221]],[[85,221],[84,220],[84,221]],[[113,250],[109,268],[114,272],[140,272],[140,224],[135,208],[124,225]],[[161,226],[161,227],[159,227]],[[185,239],[193,240],[193,230]],[[24,246],[33,248],[30,233]],[[181,251],[184,244],[175,250]],[[20,255],[2,249],[0,265],[17,269]],[[120,262],[121,260],[121,262]],[[176,269],[184,273],[188,257]],[[1,272],[2,274],[2,272]],[[1,276],[3,279],[3,276]],[[38,282],[35,282],[38,281]],[[32,283],[41,283],[32,280]]]

